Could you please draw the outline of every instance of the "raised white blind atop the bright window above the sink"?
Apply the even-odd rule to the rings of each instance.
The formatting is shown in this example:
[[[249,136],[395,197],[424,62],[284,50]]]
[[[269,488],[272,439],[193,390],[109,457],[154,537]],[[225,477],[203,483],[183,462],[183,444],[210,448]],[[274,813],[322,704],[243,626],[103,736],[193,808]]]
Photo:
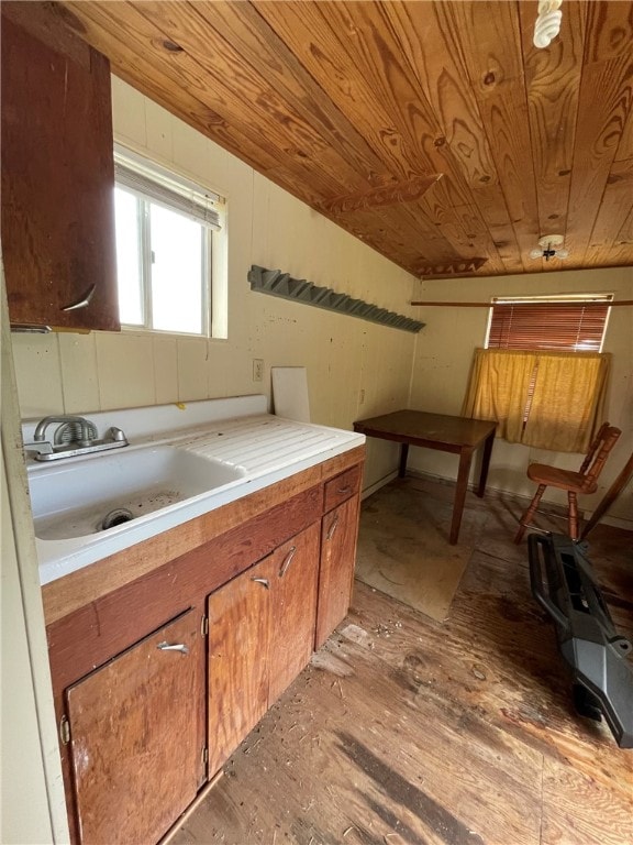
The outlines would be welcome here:
[[[221,198],[216,194],[204,193],[185,179],[180,182],[170,178],[159,167],[149,171],[115,151],[114,180],[121,187],[178,211],[202,226],[215,231],[222,228],[218,209]]]

